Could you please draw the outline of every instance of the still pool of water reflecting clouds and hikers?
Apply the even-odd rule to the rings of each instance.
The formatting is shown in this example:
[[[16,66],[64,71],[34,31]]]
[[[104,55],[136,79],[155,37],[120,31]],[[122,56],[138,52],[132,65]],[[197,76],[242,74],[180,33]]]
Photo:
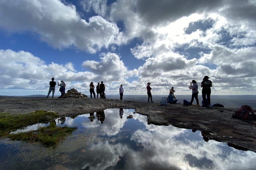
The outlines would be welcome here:
[[[206,142],[201,131],[152,125],[146,116],[133,112],[106,109],[56,119],[57,125],[78,127],[56,148],[1,140],[0,169],[254,170],[256,167],[254,152],[237,150],[214,140]],[[129,114],[133,118],[126,119]]]

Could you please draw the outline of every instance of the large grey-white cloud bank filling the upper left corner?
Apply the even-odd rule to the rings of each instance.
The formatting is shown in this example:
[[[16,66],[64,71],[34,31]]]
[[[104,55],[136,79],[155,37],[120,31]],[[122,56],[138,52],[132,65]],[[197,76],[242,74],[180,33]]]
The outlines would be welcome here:
[[[100,16],[86,22],[71,4],[59,0],[0,1],[0,27],[8,32],[37,33],[41,40],[58,49],[75,46],[94,53],[114,42],[119,30]]]

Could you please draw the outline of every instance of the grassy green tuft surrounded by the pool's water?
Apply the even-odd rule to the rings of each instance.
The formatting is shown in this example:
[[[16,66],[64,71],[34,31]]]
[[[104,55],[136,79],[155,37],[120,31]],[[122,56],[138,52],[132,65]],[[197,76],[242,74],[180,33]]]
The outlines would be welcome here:
[[[12,140],[23,140],[31,143],[40,142],[46,147],[54,147],[75,129],[67,126],[56,126],[55,123],[51,122],[48,127],[38,127],[38,130],[34,131],[9,134],[8,137]]]

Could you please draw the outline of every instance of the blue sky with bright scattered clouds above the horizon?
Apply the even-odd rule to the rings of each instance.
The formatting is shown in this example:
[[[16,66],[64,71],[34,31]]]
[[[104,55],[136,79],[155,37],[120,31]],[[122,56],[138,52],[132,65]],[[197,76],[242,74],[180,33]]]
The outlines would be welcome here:
[[[255,95],[255,53],[256,0],[0,0],[0,95]]]

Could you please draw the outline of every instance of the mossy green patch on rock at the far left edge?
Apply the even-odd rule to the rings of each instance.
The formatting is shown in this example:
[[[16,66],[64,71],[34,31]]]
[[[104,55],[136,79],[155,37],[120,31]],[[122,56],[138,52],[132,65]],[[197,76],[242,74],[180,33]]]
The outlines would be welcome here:
[[[0,136],[29,125],[48,122],[56,117],[58,117],[56,113],[47,111],[35,111],[26,114],[0,113]]]

